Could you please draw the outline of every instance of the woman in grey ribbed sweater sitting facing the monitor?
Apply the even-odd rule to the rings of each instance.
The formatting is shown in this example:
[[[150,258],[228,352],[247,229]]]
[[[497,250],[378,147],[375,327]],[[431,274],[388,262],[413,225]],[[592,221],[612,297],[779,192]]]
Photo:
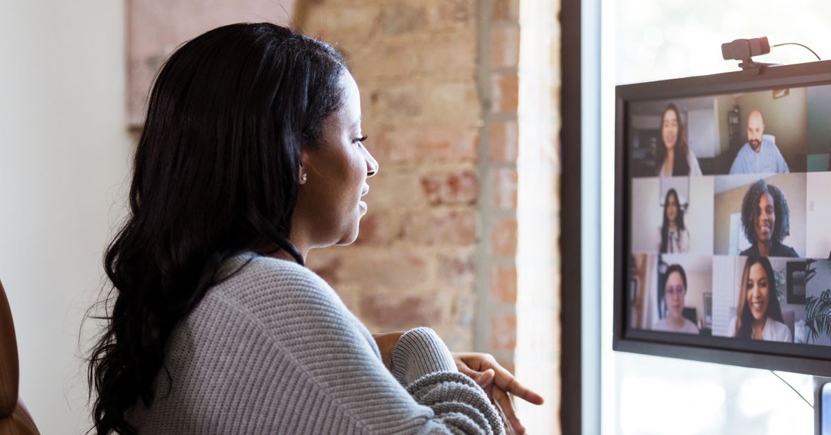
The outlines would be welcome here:
[[[489,355],[425,328],[376,334],[303,267],[347,245],[378,164],[332,47],[273,24],[184,44],[150,95],[115,301],[91,355],[97,433],[523,431]],[[487,389],[459,369],[475,377]]]

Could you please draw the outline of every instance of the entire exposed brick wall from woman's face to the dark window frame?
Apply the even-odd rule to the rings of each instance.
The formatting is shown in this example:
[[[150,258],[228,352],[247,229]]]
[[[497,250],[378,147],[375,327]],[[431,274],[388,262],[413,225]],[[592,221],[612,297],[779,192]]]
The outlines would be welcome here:
[[[559,396],[558,356],[550,352],[558,350],[559,340],[558,304],[552,302],[558,300],[558,279],[551,279],[558,274],[557,229],[524,248],[518,241],[523,228],[527,237],[528,229],[556,225],[557,194],[552,192],[557,181],[550,176],[558,171],[558,131],[552,132],[558,116],[549,120],[553,123],[543,137],[521,144],[520,130],[528,136],[539,119],[520,116],[520,37],[551,35],[525,32],[519,3],[298,2],[296,26],[346,54],[361,89],[363,127],[370,136],[366,146],[381,166],[369,181],[369,212],[356,244],[312,251],[308,262],[373,332],[427,325],[451,350],[493,353],[512,371],[514,356],[524,355],[526,383],[538,386],[535,370],[553,377],[542,388],[548,405],[537,410],[552,415],[558,413]],[[550,42],[530,50],[550,48],[544,57],[549,59],[559,47],[556,36]],[[525,59],[535,56],[524,54]],[[522,86],[538,88],[551,106],[558,82],[529,82],[542,79],[527,73],[523,77],[532,78],[524,78]],[[525,101],[528,108],[529,99]],[[536,166],[522,163],[520,145],[526,161],[529,152],[537,156]],[[519,195],[524,192],[528,203],[538,180],[550,184],[541,190],[549,197],[530,205],[538,213],[524,221],[528,214],[518,213],[518,205],[523,207]],[[548,220],[538,219],[541,215]],[[552,263],[533,267],[549,270],[545,288],[538,286],[534,272],[522,272],[528,267],[517,267],[518,258],[538,255],[543,245],[544,255],[536,258]],[[519,284],[523,282],[527,284]],[[543,309],[524,316],[538,297],[547,301]],[[518,329],[533,328],[534,319],[549,326],[518,340]],[[539,337],[549,341],[545,353],[523,350],[522,343]],[[532,432],[558,433],[550,419],[539,422],[526,426]]]

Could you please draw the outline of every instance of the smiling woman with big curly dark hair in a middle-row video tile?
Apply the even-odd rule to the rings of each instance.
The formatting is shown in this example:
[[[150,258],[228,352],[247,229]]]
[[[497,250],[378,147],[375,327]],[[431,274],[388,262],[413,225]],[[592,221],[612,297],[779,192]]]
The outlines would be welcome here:
[[[782,190],[765,180],[750,185],[741,203],[741,225],[750,248],[740,255],[799,257],[794,248],[782,244],[790,235],[789,215]]]

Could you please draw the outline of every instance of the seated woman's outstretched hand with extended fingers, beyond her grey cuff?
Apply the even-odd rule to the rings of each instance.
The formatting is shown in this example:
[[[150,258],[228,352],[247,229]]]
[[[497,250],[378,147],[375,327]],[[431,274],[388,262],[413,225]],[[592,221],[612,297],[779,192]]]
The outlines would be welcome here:
[[[513,374],[499,365],[496,359],[488,353],[453,353],[453,359],[456,362],[456,368],[473,378],[502,410],[504,418],[508,420],[507,423],[514,429],[514,432],[525,433],[524,426],[517,418],[510,395],[513,394],[535,405],[542,405],[543,397],[525,388],[514,378]]]

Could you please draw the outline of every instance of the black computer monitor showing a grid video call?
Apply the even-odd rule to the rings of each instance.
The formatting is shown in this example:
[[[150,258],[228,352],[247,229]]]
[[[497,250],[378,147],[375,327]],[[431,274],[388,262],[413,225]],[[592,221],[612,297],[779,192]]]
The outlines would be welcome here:
[[[831,61],[617,87],[619,351],[831,376]]]

